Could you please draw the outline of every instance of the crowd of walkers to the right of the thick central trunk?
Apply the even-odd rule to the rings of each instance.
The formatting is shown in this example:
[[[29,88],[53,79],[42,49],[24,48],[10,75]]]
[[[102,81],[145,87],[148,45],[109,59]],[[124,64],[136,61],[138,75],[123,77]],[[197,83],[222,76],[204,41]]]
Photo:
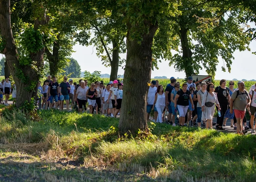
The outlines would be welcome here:
[[[250,91],[245,90],[244,82],[238,82],[238,88],[234,89],[234,82],[229,82],[226,87],[226,80],[220,80],[219,86],[215,87],[209,81],[193,83],[191,76],[187,83],[180,84],[174,77],[170,78],[170,84],[159,85],[153,80],[147,96],[147,120],[154,110],[152,121],[163,123],[166,113],[167,123],[173,126],[205,126],[207,129],[225,130],[227,119],[231,119],[231,126],[239,134],[245,134],[249,128],[255,132],[254,118],[256,111],[256,83]],[[213,122],[215,108],[218,111],[217,122]],[[246,125],[246,109],[250,114],[249,126]],[[179,115],[179,118],[177,117]],[[196,122],[197,120],[197,122]],[[244,124],[244,128],[242,126]]]

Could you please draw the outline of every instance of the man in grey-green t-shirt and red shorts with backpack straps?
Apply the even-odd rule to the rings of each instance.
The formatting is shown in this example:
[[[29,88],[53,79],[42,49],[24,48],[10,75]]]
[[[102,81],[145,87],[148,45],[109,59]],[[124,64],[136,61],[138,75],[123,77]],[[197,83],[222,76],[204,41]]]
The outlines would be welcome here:
[[[246,108],[251,115],[249,108],[251,99],[249,93],[245,90],[244,82],[240,81],[238,84],[238,88],[238,90],[233,92],[230,99],[230,114],[233,113],[234,109],[234,113],[237,119],[237,133],[244,134],[245,131],[242,130],[242,119],[244,118]]]

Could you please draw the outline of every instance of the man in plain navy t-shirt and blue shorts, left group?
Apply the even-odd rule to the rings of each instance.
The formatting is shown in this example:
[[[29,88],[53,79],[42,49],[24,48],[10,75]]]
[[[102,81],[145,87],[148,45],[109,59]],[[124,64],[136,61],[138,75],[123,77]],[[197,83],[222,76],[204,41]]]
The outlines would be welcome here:
[[[68,83],[68,78],[67,76],[63,77],[63,82],[60,83],[59,86],[59,93],[60,97],[63,95],[64,100],[66,101],[66,109],[69,111],[69,92],[71,90],[70,84]],[[63,111],[63,105],[64,105],[64,100],[60,101],[60,110]]]

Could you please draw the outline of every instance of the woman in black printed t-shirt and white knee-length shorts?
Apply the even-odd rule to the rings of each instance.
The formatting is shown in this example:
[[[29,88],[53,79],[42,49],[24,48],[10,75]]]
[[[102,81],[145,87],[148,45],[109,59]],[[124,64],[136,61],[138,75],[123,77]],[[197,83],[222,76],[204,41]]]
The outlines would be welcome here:
[[[182,90],[177,91],[176,96],[174,98],[174,107],[178,107],[180,117],[179,117],[179,123],[180,126],[184,126],[185,123],[185,115],[188,109],[188,105],[190,102],[192,103],[192,109],[194,109],[193,99],[191,97],[190,91],[187,90],[187,84],[184,83],[182,85]]]

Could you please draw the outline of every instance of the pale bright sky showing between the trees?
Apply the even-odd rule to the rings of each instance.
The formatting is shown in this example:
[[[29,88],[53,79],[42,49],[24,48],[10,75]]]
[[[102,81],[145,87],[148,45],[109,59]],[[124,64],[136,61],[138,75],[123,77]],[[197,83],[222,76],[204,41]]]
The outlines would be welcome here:
[[[251,51],[235,51],[233,53],[235,59],[231,65],[230,73],[228,71],[223,72],[221,70],[221,67],[223,66],[223,60],[219,58],[215,79],[256,79],[256,70],[254,70],[254,66],[256,66],[256,55],[252,54],[252,52],[256,52],[256,41],[252,41],[249,47]],[[110,74],[111,68],[106,68],[104,65],[102,65],[100,58],[98,58],[96,55],[95,47],[84,47],[76,44],[73,49],[76,52],[72,53],[72,57],[76,59],[81,66],[81,71],[101,71],[102,74]],[[126,58],[126,54],[121,54],[120,57]],[[151,72],[151,78],[154,78],[155,76],[167,76],[167,78],[172,76],[175,78],[185,78],[185,72],[175,71],[174,67],[169,66],[169,61],[163,60],[161,63],[158,62],[157,64],[159,70],[154,69],[154,71]],[[122,67],[119,67],[118,74],[124,74]],[[199,75],[207,75],[205,69],[200,70]]]

